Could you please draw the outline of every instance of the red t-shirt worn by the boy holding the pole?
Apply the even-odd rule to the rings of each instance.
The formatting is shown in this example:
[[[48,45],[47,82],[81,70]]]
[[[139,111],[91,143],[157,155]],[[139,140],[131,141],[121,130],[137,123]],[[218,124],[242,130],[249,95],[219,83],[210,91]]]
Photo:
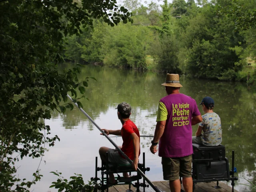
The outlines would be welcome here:
[[[130,160],[134,160],[134,145],[131,139],[132,133],[136,133],[136,135],[138,135],[140,138],[140,133],[137,126],[131,120],[128,120],[124,122],[121,129],[121,134],[123,139],[122,151],[130,158]],[[122,156],[122,158],[124,157]]]

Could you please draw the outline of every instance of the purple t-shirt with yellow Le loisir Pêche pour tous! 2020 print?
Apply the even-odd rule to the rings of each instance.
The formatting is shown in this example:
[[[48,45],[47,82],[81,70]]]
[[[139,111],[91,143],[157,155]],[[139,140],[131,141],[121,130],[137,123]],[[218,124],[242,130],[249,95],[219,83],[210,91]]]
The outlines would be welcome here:
[[[159,141],[160,157],[184,157],[193,154],[192,116],[200,115],[196,101],[184,94],[170,94],[160,100],[168,115]]]

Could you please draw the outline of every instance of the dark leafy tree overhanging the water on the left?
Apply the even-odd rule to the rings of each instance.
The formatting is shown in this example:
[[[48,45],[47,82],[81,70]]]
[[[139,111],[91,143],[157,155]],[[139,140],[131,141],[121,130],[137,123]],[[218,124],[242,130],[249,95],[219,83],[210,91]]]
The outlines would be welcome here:
[[[113,10],[112,13],[107,10]],[[15,161],[24,156],[38,158],[44,145],[54,146],[43,119],[51,110],[73,109],[66,94],[77,99],[76,88],[84,94],[88,78],[78,81],[79,67],[58,72],[64,36],[92,28],[92,18],[103,18],[110,26],[132,22],[124,7],[115,0],[0,0],[0,191],[28,191],[34,180],[16,177]],[[78,104],[82,107],[81,102]],[[43,131],[43,132],[42,132]],[[17,155],[15,157],[15,155]]]

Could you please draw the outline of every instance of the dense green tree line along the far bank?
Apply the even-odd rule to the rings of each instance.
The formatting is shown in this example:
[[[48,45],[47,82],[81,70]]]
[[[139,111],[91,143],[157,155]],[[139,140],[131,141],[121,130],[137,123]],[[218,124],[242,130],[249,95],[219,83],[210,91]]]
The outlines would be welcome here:
[[[132,12],[133,23],[111,28],[94,20],[94,30],[67,38],[66,59],[198,78],[255,78],[255,1],[122,4]]]

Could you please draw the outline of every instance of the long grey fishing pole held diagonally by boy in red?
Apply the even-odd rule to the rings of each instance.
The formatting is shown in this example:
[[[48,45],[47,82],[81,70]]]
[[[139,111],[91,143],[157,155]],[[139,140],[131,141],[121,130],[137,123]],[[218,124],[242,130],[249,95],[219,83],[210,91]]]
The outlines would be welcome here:
[[[104,131],[101,130],[101,128],[94,122],[94,120],[92,120],[92,118],[90,118],[90,116],[82,108],[80,108],[78,106],[78,104],[76,102],[74,102],[73,99],[68,94],[67,94],[67,96],[85,114],[85,116],[98,128],[98,130],[100,130],[102,135],[104,135],[110,141],[110,143],[112,143],[112,145],[114,145],[114,147],[118,150],[118,152],[120,152],[120,154],[122,154],[122,156],[124,156],[130,164],[133,164],[132,160],[130,160],[130,158],[128,158],[128,156],[118,147],[118,145],[115,144],[115,142]],[[137,168],[137,172],[148,182],[148,184],[156,192],[160,192],[160,190],[146,177],[146,175],[139,168]]]

